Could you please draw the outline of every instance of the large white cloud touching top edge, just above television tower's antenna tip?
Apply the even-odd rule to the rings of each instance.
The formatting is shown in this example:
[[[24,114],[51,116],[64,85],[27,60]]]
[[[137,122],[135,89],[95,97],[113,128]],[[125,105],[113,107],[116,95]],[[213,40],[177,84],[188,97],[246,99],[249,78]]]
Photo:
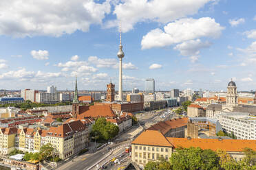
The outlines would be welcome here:
[[[168,23],[188,15],[196,14],[200,8],[211,0],[170,1],[170,0],[125,0],[116,5],[114,14],[118,21],[125,23],[122,31],[127,32],[138,22],[156,21]],[[107,27],[118,26],[117,21],[109,21]]]

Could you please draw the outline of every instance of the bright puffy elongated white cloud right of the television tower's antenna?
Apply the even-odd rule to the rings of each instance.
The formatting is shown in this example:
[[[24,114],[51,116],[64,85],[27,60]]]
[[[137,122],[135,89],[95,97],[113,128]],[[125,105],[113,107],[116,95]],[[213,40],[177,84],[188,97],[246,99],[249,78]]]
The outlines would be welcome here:
[[[223,29],[224,27],[209,17],[180,19],[164,26],[164,31],[157,28],[148,32],[143,36],[141,46],[142,49],[151,49],[201,37],[218,38]]]

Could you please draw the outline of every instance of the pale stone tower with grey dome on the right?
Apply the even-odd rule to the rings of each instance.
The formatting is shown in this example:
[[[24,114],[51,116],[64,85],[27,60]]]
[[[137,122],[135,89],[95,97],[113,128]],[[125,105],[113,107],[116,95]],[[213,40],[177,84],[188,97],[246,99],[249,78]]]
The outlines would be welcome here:
[[[233,82],[233,80],[231,80],[231,82],[228,83],[228,91],[226,93],[226,105],[238,105],[237,86],[235,85],[235,82]]]

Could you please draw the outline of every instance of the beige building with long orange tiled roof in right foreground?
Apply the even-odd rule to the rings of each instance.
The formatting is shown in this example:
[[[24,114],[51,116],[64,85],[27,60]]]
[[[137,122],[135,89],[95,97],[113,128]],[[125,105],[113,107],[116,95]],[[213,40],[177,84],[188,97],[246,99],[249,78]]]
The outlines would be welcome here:
[[[244,148],[256,151],[256,140],[236,140],[222,138],[169,138],[156,130],[142,132],[131,142],[131,160],[138,165],[146,165],[149,161],[159,158],[169,159],[176,148],[200,147],[216,151],[222,149],[235,160],[242,160]]]

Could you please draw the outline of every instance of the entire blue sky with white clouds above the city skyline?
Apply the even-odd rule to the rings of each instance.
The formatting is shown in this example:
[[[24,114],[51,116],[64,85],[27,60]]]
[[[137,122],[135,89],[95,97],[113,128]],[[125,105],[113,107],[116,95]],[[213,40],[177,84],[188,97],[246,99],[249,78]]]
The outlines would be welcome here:
[[[0,86],[6,89],[123,88],[255,90],[256,2],[233,0],[2,0]]]

